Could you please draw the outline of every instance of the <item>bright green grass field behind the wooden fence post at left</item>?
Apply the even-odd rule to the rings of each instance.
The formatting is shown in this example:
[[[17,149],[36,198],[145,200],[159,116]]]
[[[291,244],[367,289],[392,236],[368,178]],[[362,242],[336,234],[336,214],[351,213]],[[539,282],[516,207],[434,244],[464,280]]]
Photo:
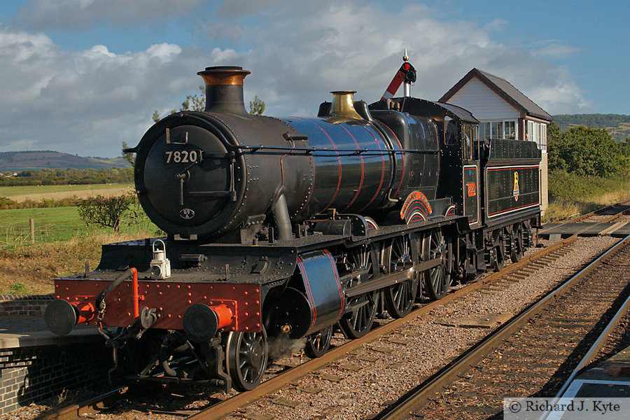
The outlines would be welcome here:
[[[16,246],[30,241],[29,219],[34,219],[35,241],[66,241],[78,235],[103,231],[104,228],[86,227],[76,207],[50,207],[42,209],[0,210],[0,246]],[[124,233],[157,232],[158,228],[148,218],[137,225],[121,225]],[[111,229],[107,229],[111,232]]]

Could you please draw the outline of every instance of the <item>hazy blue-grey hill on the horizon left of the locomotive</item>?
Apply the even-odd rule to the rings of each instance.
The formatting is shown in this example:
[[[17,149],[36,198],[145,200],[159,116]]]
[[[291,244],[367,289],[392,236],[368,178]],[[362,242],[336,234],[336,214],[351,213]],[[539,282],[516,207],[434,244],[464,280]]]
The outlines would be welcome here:
[[[0,152],[0,171],[25,169],[109,169],[126,168],[123,158],[83,158],[52,151]]]

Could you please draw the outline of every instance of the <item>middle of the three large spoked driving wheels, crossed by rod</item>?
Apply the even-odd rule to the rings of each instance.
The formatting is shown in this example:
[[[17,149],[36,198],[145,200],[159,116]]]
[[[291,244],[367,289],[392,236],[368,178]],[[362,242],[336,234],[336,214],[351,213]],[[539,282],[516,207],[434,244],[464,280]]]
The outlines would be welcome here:
[[[414,266],[412,243],[409,235],[395,237],[386,249],[384,266],[388,273],[403,272]],[[393,318],[402,318],[413,309],[418,290],[418,278],[413,274],[409,280],[393,284],[383,290],[385,307]]]

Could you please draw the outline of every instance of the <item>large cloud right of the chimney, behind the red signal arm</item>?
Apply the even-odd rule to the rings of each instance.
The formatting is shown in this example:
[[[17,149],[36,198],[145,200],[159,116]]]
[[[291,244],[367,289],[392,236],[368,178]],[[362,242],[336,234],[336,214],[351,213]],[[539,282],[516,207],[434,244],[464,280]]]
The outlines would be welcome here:
[[[258,13],[262,23],[247,27],[241,38],[248,51],[230,63],[252,71],[246,96],[258,94],[269,115],[304,109],[312,115],[319,102],[330,100],[330,90],[357,90],[358,99],[375,101],[402,64],[404,48],[418,71],[414,96],[436,100],[477,67],[531,93],[549,113],[588,106],[568,71],[545,62],[540,50],[493,41],[491,31],[503,27],[502,20],[484,27],[442,21],[419,4],[392,13],[360,1],[297,3]]]

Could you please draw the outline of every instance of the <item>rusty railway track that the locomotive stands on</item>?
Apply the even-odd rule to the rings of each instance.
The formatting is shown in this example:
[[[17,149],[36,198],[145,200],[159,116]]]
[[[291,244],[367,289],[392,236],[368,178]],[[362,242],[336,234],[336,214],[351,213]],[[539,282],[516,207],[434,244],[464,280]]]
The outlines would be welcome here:
[[[221,401],[214,400],[213,402],[209,402],[203,409],[186,408],[172,411],[165,409],[153,409],[153,413],[155,414],[155,412],[160,412],[162,414],[172,414],[174,416],[189,415],[187,418],[191,420],[220,419],[232,412],[235,412],[237,409],[242,409],[242,407],[245,407],[256,400],[260,400],[260,398],[264,398],[266,395],[270,395],[283,387],[286,387],[287,384],[295,383],[298,379],[305,377],[322,367],[328,366],[331,363],[335,363],[335,360],[339,360],[352,351],[359,349],[361,346],[365,346],[366,343],[373,342],[374,340],[379,339],[379,337],[384,337],[395,330],[399,330],[402,328],[402,325],[405,325],[405,323],[408,323],[410,320],[415,318],[426,316],[426,314],[430,314],[430,312],[434,311],[437,307],[461,299],[465,297],[465,295],[473,293],[477,290],[484,290],[484,288],[490,288],[491,290],[494,288],[494,290],[496,290],[496,288],[507,287],[512,283],[526,279],[533,272],[544,269],[547,265],[561,258],[563,255],[570,253],[573,250],[574,242],[576,240],[576,237],[571,237],[552,246],[548,246],[533,255],[527,256],[520,262],[506,267],[501,272],[489,274],[484,279],[481,279],[476,283],[470,283],[459,290],[449,293],[449,295],[444,297],[442,300],[424,304],[419,309],[415,309],[412,314],[409,314],[409,316],[405,318],[385,323],[384,325],[379,326],[379,328],[375,328],[361,339],[351,340],[345,344],[336,346],[328,351],[328,353],[325,353],[325,355],[321,358],[308,360],[291,368],[276,368],[276,373],[266,379],[253,391],[235,394],[230,398],[226,398]],[[76,419],[81,418],[81,416],[84,416],[85,414],[102,412],[103,410],[111,409],[111,407],[118,407],[120,405],[119,400],[121,398],[126,398],[126,392],[126,388],[120,388],[116,391],[112,391],[111,393],[106,393],[97,398],[92,398],[92,400],[85,402],[84,404],[66,407],[58,412],[50,412],[39,418]],[[147,407],[150,406],[151,404],[147,405]],[[145,409],[147,412],[151,411],[151,408]]]

